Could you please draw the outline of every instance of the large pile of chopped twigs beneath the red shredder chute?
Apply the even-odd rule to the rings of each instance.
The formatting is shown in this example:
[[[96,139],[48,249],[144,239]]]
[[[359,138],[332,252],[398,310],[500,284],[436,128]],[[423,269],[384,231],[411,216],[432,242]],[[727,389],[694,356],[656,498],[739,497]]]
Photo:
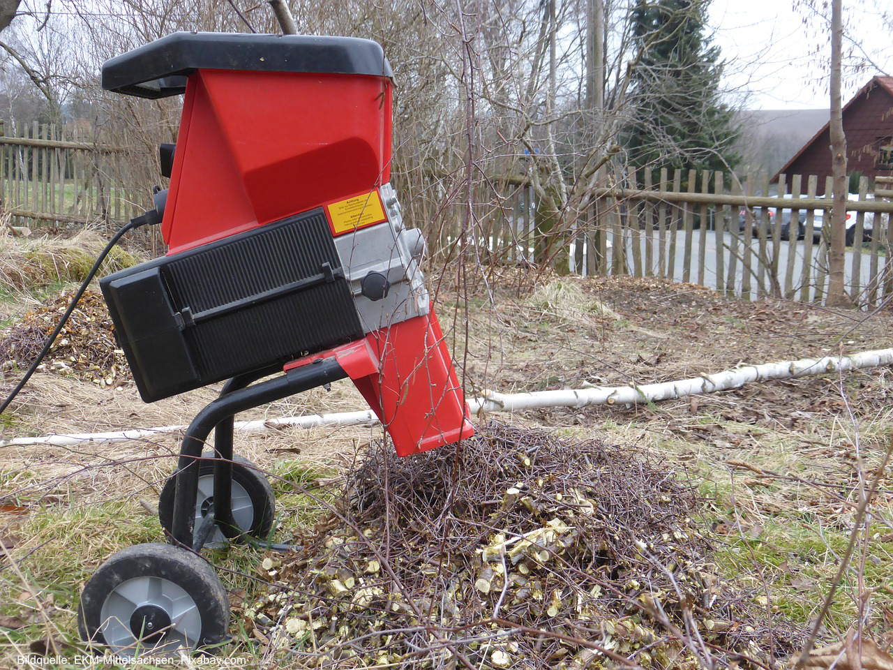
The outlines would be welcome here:
[[[803,641],[720,578],[696,491],[653,456],[490,422],[372,445],[340,494],[243,610],[309,666],[757,667]]]

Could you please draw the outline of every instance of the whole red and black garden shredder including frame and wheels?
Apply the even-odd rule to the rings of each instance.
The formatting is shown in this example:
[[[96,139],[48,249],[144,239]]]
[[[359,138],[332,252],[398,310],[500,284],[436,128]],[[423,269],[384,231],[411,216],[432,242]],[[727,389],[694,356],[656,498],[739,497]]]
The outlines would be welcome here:
[[[171,543],[110,557],[81,594],[79,630],[123,655],[179,654],[227,637],[226,590],[196,552],[266,539],[274,519],[270,484],[233,455],[233,415],[349,377],[399,456],[473,429],[424,240],[389,183],[393,75],[378,44],[178,32],[102,76],[124,95],[183,96],[176,144],[160,147],[170,187],[143,214],[169,253],[101,281],[139,393],[226,382],[163,487]]]

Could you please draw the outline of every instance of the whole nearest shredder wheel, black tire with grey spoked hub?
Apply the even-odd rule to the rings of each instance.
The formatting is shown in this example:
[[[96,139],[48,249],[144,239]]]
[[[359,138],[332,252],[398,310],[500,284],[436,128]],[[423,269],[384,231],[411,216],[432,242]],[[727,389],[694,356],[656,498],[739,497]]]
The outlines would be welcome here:
[[[169,544],[138,544],[114,554],[80,594],[84,641],[123,657],[179,657],[227,638],[230,600],[200,557]]]

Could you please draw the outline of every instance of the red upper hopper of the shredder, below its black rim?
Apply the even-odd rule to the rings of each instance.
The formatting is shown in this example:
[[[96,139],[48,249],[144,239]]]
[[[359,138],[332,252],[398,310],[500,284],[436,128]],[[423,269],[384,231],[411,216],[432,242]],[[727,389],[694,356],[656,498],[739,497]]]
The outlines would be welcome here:
[[[171,253],[388,183],[390,123],[387,76],[197,71],[162,223]]]

